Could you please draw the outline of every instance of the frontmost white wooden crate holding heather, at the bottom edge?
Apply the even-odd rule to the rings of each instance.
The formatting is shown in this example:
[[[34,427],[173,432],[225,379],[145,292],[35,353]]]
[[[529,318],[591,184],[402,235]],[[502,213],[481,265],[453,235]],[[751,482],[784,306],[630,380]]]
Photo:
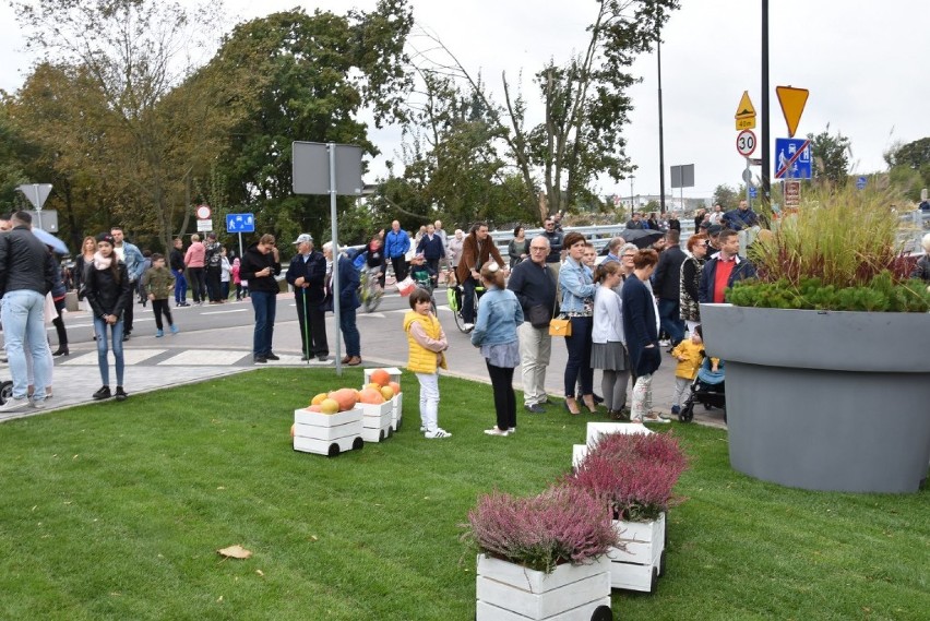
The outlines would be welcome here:
[[[476,621],[610,621],[610,560],[551,574],[478,554]]]

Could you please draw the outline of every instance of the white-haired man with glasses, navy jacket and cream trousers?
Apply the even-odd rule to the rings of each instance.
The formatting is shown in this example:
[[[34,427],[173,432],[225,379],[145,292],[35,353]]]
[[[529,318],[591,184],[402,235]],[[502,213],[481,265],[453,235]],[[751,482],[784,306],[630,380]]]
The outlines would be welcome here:
[[[537,236],[529,242],[529,261],[513,268],[506,288],[516,294],[523,308],[523,323],[516,329],[520,338],[520,365],[523,369],[523,407],[542,414],[546,395],[546,368],[552,351],[549,320],[556,314],[556,278],[546,266],[549,240]]]

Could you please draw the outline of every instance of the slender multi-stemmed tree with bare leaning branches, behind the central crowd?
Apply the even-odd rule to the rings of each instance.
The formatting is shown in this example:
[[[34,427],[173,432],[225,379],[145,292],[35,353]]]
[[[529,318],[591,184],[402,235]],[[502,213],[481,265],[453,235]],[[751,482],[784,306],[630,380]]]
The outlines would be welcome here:
[[[439,63],[439,70],[463,79],[488,110],[508,163],[523,179],[523,200],[535,202],[541,186],[541,204],[549,213],[589,200],[597,175],[620,181],[631,171],[622,135],[632,109],[627,91],[636,81],[630,67],[637,53],[652,49],[670,11],[679,8],[677,0],[600,0],[597,4],[584,53],[564,64],[549,61],[536,73],[545,106],[539,123],[528,121],[526,101],[522,94],[512,93],[505,75],[501,76],[504,101],[498,105],[480,79],[431,37],[451,58],[452,67]]]

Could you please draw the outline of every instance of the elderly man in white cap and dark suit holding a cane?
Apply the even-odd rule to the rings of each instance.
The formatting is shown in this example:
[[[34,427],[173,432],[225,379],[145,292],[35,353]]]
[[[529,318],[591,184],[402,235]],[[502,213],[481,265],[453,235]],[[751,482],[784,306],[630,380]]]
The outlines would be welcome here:
[[[313,250],[313,238],[301,234],[294,241],[297,254],[290,260],[285,279],[294,287],[297,323],[300,324],[301,360],[329,363],[326,341],[326,258]]]

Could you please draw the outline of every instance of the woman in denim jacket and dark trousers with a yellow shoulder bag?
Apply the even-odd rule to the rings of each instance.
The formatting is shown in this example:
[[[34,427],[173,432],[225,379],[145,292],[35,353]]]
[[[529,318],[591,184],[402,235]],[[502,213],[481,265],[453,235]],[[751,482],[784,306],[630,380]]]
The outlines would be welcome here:
[[[594,369],[591,368],[591,331],[594,326],[594,294],[597,287],[591,272],[582,263],[585,238],[572,231],[565,236],[563,248],[569,255],[559,271],[559,287],[562,289],[562,317],[572,323],[572,335],[565,337],[569,361],[565,365],[565,409],[581,414],[575,401],[575,383],[581,380],[582,401],[594,414]]]

